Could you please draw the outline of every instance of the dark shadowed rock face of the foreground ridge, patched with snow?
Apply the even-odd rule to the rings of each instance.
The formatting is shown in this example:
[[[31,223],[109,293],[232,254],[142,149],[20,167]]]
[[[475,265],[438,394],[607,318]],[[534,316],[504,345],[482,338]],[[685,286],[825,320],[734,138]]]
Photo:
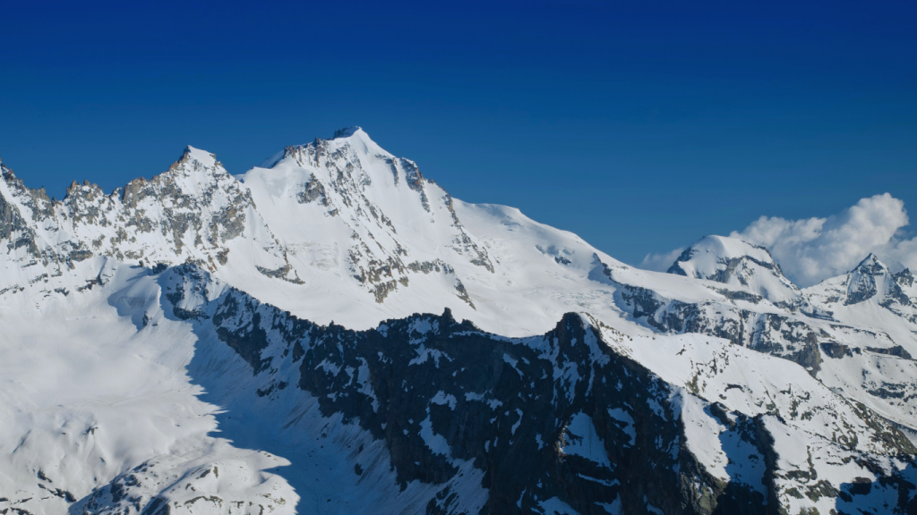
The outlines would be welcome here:
[[[370,334],[333,327],[310,338],[300,368],[324,373],[304,373],[299,386],[327,415],[359,417],[385,440],[403,483],[445,484],[458,474],[456,462],[473,462],[490,490],[489,513],[526,512],[553,498],[580,512],[619,496],[624,510],[644,506],[644,495],[666,510],[688,504],[670,495],[679,487],[679,425],[668,388],[629,360],[603,356],[590,333],[570,315],[542,338],[501,341],[448,312]],[[341,339],[351,342],[343,356]],[[348,368],[365,370],[368,381],[334,373]],[[624,383],[609,385],[613,378]],[[652,401],[666,411],[653,411]],[[624,422],[609,414],[619,411]],[[631,424],[652,429],[632,439]],[[452,490],[460,488],[444,488],[428,510],[450,512]]]

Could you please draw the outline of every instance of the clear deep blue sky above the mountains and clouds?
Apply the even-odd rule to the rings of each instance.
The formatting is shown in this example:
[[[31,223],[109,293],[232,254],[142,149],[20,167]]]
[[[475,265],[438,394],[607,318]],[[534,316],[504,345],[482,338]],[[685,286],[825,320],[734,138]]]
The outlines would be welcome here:
[[[917,213],[913,2],[77,4],[0,15],[0,156],[59,198],[359,125],[632,263],[880,192]]]

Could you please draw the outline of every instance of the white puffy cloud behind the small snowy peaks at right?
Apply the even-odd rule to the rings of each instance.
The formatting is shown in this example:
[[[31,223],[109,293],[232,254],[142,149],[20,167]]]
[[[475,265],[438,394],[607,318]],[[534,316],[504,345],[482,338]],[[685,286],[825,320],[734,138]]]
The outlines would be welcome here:
[[[892,269],[917,268],[917,238],[906,239],[903,231],[909,223],[904,203],[884,193],[827,218],[762,216],[729,236],[768,247],[787,277],[804,288],[844,274],[870,252]],[[680,252],[649,254],[641,267],[666,270]]]

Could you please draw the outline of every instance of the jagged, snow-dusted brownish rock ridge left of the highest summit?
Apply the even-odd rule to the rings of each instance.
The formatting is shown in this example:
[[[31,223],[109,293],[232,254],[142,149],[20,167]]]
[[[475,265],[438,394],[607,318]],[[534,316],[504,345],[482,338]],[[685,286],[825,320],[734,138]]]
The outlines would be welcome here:
[[[195,148],[150,181],[131,181],[107,195],[94,184],[73,182],[62,201],[29,190],[4,168],[0,196],[8,220],[0,232],[9,233],[10,252],[26,249],[20,262],[31,256],[59,271],[98,255],[151,265],[194,262],[215,270],[226,264],[233,243],[249,239],[258,245],[256,263],[266,269],[285,264],[249,192],[212,155]]]

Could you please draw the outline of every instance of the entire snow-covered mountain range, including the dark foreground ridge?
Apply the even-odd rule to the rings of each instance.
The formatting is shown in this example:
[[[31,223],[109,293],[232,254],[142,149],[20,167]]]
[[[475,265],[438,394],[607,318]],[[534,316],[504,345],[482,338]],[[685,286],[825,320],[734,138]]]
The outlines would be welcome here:
[[[917,509],[917,286],[876,257],[632,268],[357,127],[61,201],[0,172],[0,513]]]

